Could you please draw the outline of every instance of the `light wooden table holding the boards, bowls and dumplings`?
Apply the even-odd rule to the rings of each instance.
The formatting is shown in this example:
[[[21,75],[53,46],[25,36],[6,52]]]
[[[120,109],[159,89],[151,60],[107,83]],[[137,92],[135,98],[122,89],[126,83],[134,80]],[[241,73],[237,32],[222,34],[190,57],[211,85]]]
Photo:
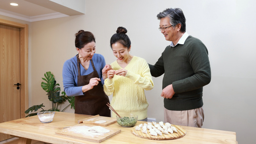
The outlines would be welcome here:
[[[0,123],[0,132],[20,137],[18,144],[30,144],[31,139],[52,144],[98,144],[55,134],[56,131],[76,125],[78,120],[88,117],[91,116],[56,112],[50,123],[41,123],[37,116]],[[140,123],[145,122],[137,122],[137,124]],[[148,140],[134,136],[131,132],[132,128],[121,127],[117,123],[107,127],[121,129],[121,133],[103,141],[103,144],[236,144],[236,133],[228,131],[181,126],[186,130],[186,134],[182,138]]]

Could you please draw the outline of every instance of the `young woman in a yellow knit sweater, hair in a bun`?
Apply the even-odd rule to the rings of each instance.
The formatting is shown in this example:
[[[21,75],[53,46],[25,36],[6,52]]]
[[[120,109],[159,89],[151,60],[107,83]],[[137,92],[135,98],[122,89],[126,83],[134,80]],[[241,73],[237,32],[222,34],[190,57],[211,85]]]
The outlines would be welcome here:
[[[119,115],[136,114],[138,120],[147,121],[147,107],[144,90],[154,87],[152,76],[146,60],[132,56],[130,38],[124,27],[118,27],[117,33],[110,39],[116,61],[111,63],[108,78],[105,80],[104,92],[113,94],[111,106]],[[116,114],[112,112],[112,117]]]

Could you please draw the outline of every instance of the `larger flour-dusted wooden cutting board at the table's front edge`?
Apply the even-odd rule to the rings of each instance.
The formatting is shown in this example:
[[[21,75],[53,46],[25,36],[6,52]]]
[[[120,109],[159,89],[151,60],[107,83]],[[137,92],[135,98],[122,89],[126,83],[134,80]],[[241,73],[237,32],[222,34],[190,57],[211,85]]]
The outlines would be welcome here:
[[[104,127],[105,129],[110,130],[110,132],[102,133],[101,135],[95,135],[95,134],[93,134],[93,132],[89,132],[89,133],[84,132],[83,131],[83,130],[85,130],[84,126],[92,127],[95,125],[90,125],[87,123],[80,123],[80,124],[73,125],[73,126],[64,128],[62,130],[59,130],[59,131],[55,132],[55,134],[61,135],[61,136],[67,136],[67,137],[71,137],[71,138],[77,138],[77,139],[90,141],[90,142],[101,143],[101,142],[105,141],[106,139],[121,132],[120,129]],[[73,131],[73,130],[76,130],[76,131]],[[98,133],[96,132],[96,134],[98,134]]]

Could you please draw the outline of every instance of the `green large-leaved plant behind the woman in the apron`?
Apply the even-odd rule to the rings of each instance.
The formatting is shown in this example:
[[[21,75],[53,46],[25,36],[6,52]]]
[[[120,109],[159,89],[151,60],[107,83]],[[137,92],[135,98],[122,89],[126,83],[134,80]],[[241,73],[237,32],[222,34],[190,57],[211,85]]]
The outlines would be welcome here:
[[[38,109],[42,109],[41,111],[60,111],[59,106],[64,103],[66,100],[69,101],[69,105],[62,109],[61,111],[64,111],[69,106],[74,109],[74,97],[73,96],[67,96],[64,91],[61,92],[61,88],[59,87],[60,84],[56,84],[54,75],[51,72],[46,72],[44,74],[45,78],[42,78],[45,82],[41,83],[41,87],[47,92],[47,96],[49,101],[51,101],[52,108],[45,110],[42,107],[45,107],[43,103],[41,105],[34,105],[30,108],[28,108],[25,113],[28,114],[30,111],[37,111]],[[61,96],[60,96],[61,92]],[[40,111],[40,112],[41,112]],[[36,113],[30,113],[26,117],[37,115]]]

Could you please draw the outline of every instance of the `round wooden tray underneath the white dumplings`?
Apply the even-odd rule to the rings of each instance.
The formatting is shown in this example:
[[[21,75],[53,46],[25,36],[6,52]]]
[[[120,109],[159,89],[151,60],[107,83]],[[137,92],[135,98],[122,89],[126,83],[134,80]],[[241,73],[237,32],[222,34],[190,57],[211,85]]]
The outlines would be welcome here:
[[[171,126],[175,127],[178,132],[154,136],[154,135],[150,135],[148,130],[147,130],[147,134],[143,133],[142,128],[140,129],[140,131],[136,131],[135,130],[136,126],[132,128],[131,132],[137,137],[150,139],[150,140],[172,140],[172,139],[181,138],[186,134],[186,131],[182,127],[174,124],[171,124]]]

